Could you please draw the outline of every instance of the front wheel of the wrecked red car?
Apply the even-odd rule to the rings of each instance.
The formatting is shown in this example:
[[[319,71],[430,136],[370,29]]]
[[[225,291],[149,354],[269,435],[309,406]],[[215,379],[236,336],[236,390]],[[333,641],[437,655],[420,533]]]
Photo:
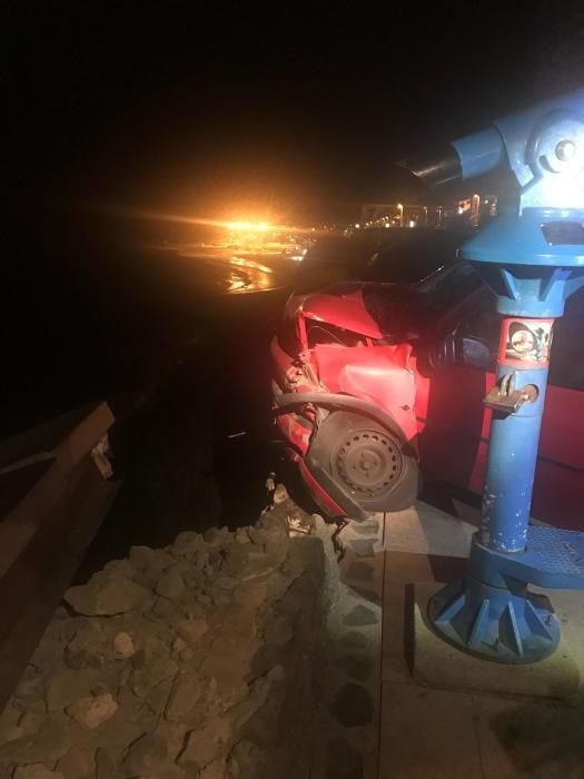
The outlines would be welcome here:
[[[338,411],[321,423],[313,453],[364,511],[400,511],[417,497],[419,470],[405,441],[362,414]]]

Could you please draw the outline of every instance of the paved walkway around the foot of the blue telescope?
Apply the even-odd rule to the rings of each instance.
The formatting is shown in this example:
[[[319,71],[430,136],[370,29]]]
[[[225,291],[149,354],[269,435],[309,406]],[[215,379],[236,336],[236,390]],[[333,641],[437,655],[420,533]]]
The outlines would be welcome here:
[[[385,517],[378,777],[583,779],[582,593],[550,593],[564,639],[547,665],[502,668],[436,640],[433,678],[420,679],[416,596],[465,570],[477,515],[464,516],[418,504]]]

